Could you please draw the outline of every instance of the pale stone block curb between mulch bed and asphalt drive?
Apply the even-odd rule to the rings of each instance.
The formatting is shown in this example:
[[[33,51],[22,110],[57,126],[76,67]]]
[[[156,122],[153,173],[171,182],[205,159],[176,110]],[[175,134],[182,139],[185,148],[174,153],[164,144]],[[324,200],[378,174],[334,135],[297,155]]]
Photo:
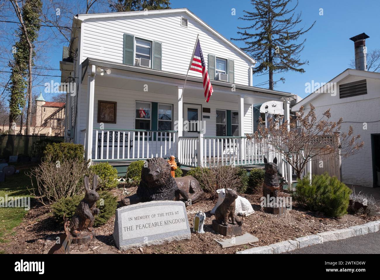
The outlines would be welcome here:
[[[367,222],[359,226],[352,226],[348,229],[337,229],[318,234],[299,237],[294,240],[287,240],[274,243],[268,246],[250,248],[247,250],[236,252],[236,254],[281,254],[293,251],[299,248],[321,244],[329,241],[342,240],[349,237],[365,235],[378,232],[380,230],[380,220]]]

